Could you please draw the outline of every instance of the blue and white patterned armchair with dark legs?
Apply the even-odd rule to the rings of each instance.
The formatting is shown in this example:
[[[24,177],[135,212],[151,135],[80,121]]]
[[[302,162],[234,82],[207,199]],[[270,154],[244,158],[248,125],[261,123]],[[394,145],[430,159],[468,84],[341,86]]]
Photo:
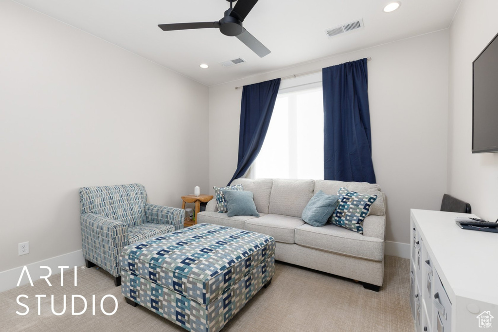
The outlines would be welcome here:
[[[183,228],[185,210],[147,204],[140,184],[80,188],[81,237],[88,268],[100,266],[121,285],[121,249]]]

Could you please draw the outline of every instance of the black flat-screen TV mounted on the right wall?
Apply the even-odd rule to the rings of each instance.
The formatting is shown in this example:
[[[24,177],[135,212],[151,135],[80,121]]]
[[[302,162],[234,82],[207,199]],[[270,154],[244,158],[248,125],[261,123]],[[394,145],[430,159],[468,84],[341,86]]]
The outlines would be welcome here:
[[[472,153],[498,152],[497,37],[472,63]]]

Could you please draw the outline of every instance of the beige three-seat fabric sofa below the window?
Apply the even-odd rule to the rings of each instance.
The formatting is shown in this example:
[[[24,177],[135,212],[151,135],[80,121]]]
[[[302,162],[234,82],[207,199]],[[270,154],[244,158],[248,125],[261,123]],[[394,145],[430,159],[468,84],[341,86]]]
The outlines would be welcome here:
[[[260,217],[218,213],[211,200],[198,221],[247,229],[275,238],[275,259],[351,278],[375,291],[384,276],[385,196],[377,184],[324,180],[236,179],[251,191]],[[303,209],[318,191],[337,194],[341,187],[376,194],[363,235],[327,223],[314,227],[301,219]]]

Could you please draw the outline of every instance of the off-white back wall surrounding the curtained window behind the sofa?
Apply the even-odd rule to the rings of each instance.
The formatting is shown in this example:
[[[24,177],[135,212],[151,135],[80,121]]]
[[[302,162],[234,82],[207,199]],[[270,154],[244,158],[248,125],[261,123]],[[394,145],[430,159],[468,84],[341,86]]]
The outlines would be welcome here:
[[[209,88],[209,185],[237,166],[242,89],[364,57],[368,63],[373,166],[387,196],[388,241],[409,243],[410,208],[439,210],[446,192],[448,30]]]

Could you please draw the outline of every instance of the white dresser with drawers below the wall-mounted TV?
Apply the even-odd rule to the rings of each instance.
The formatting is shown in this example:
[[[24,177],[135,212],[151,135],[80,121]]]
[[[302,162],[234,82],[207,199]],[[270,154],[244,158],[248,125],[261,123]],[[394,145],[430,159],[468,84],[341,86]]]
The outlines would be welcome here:
[[[498,233],[450,212],[411,210],[410,306],[417,332],[498,332]]]

